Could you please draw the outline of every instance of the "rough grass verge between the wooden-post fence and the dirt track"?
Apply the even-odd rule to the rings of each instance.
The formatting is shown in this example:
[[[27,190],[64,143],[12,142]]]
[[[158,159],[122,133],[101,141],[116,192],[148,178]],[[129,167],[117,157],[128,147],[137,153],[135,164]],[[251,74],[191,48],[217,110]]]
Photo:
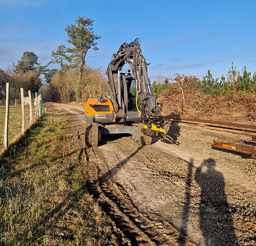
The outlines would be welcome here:
[[[0,244],[118,245],[87,193],[85,166],[62,157],[64,133],[60,114],[44,114],[1,157]]]

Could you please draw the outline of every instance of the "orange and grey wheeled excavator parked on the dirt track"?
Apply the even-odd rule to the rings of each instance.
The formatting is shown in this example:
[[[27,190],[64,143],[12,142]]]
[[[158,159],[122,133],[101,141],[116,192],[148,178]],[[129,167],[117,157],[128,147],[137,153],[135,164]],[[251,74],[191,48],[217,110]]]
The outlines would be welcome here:
[[[125,64],[130,69],[122,72]],[[110,95],[89,98],[85,104],[86,145],[97,147],[101,136],[119,133],[132,135],[140,144],[150,144],[152,137],[171,141],[162,128],[162,105],[151,93],[148,65],[140,39],[123,43],[113,54],[106,70]]]

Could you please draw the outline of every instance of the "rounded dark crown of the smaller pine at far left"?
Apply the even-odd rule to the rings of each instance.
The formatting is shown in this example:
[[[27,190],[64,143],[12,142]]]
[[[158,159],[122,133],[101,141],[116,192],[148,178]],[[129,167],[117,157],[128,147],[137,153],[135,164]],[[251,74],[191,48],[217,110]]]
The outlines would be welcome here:
[[[14,72],[36,72],[40,66],[38,63],[38,56],[35,55],[34,52],[25,51],[20,60],[18,60],[18,64],[14,65]]]

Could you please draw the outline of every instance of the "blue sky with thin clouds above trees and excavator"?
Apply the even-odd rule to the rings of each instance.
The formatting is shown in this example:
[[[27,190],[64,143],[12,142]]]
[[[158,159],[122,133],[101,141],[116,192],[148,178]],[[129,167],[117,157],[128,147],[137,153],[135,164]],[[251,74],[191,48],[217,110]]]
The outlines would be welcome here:
[[[65,27],[84,16],[101,36],[99,50],[87,55],[92,67],[105,71],[120,45],[139,37],[151,80],[174,73],[202,78],[208,69],[214,78],[226,76],[232,61],[238,71],[246,66],[254,73],[255,10],[253,0],[1,0],[0,68],[17,64],[24,51],[47,64],[52,50],[68,45]]]

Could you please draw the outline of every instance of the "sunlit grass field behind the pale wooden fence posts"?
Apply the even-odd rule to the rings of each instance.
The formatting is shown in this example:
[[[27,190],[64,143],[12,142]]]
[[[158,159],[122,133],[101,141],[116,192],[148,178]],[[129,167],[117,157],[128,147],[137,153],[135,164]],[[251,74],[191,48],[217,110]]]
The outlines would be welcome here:
[[[32,106],[32,122],[35,120],[35,109]],[[0,106],[0,149],[4,141],[5,106]],[[25,129],[30,127],[30,106],[24,106]],[[11,142],[18,134],[21,134],[22,113],[21,105],[9,107],[8,142]]]

